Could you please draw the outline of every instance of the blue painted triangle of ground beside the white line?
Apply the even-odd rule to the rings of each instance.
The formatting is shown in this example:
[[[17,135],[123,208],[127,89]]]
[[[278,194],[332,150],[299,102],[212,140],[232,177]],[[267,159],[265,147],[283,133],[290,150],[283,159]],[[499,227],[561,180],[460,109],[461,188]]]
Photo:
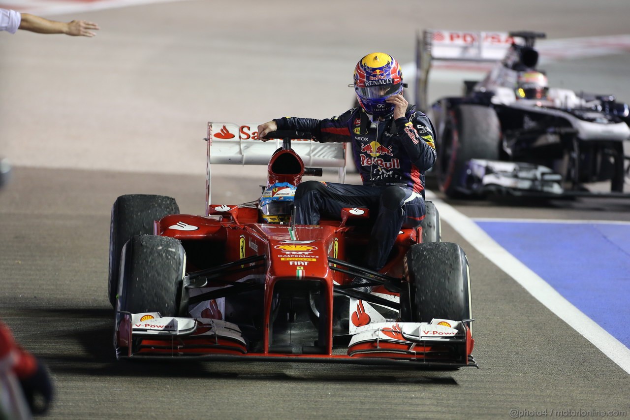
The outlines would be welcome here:
[[[474,221],[587,317],[630,347],[630,223]]]

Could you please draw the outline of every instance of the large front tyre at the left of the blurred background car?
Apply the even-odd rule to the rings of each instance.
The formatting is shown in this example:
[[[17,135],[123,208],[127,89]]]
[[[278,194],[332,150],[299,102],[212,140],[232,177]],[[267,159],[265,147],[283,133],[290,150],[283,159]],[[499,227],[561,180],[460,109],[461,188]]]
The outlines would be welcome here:
[[[451,198],[466,197],[474,182],[466,173],[471,159],[499,160],[501,124],[493,108],[459,105],[450,112],[438,148],[436,165],[440,190]]]

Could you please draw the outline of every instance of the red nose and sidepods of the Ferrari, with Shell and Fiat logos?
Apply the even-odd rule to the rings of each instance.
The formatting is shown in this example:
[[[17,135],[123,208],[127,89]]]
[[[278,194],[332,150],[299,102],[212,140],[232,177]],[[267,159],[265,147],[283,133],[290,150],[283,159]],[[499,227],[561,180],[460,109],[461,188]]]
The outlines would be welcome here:
[[[291,281],[320,281],[323,284],[324,295],[327,296],[326,311],[329,318],[332,317],[333,284],[346,284],[352,279],[348,279],[341,272],[329,269],[328,257],[346,260],[348,258],[346,249],[349,243],[355,248],[365,248],[367,245],[366,236],[353,238],[351,235],[347,235],[353,231],[353,227],[341,226],[339,221],[323,222],[319,226],[298,226],[295,228],[294,233],[291,233],[289,226],[286,225],[256,223],[255,221],[258,218],[257,209],[229,206],[228,211],[219,213],[214,210],[215,207],[217,206],[210,206],[210,213],[218,214],[220,219],[191,214],[166,216],[159,222],[156,222],[156,234],[171,236],[183,242],[202,240],[220,243],[225,247],[223,262],[264,254],[266,256],[266,267],[258,269],[256,274],[265,276],[264,317],[266,329],[269,327],[268,319],[271,312],[274,286],[277,281],[283,279]],[[236,223],[236,220],[240,223]],[[173,226],[180,222],[198,226],[199,229],[195,231],[178,231],[168,228],[168,226]],[[404,252],[414,243],[418,243],[418,238],[422,236],[420,227],[404,229],[401,232],[394,244],[396,258],[391,259],[382,270],[382,272],[392,277],[403,276],[401,267],[403,266],[402,257]],[[303,245],[287,243],[296,240],[308,243]],[[242,245],[243,243],[244,246]],[[195,271],[203,268],[205,267],[190,267],[186,271]],[[300,271],[301,274],[298,277],[297,273]],[[390,294],[382,287],[376,289],[375,292]],[[328,337],[328,342],[326,342],[325,347],[327,353],[332,354],[332,325],[328,326],[326,336]],[[268,354],[268,334],[265,334],[264,342],[263,354]]]

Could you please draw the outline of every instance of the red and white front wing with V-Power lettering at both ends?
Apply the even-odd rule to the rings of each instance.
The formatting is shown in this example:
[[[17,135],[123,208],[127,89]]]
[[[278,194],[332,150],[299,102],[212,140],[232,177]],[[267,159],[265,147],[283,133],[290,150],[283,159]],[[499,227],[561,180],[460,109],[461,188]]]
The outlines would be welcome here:
[[[210,318],[162,317],[159,313],[118,314],[117,358],[261,359],[364,365],[459,368],[476,366],[466,322],[381,322],[359,327],[347,347],[332,354],[251,353],[238,325]]]

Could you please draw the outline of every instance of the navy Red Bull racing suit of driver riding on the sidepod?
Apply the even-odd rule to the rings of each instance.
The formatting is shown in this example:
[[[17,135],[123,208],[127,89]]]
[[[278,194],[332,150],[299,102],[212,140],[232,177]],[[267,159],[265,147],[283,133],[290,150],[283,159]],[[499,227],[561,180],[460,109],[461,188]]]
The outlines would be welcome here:
[[[362,108],[339,117],[275,119],[278,130],[310,131],[321,143],[352,143],[363,185],[306,181],[295,192],[296,223],[318,225],[321,214],[340,218],[343,207],[367,207],[376,215],[365,255],[375,271],[387,262],[401,227],[415,227],[425,214],[425,175],[435,162],[433,127],[412,105],[404,117],[370,122]]]

